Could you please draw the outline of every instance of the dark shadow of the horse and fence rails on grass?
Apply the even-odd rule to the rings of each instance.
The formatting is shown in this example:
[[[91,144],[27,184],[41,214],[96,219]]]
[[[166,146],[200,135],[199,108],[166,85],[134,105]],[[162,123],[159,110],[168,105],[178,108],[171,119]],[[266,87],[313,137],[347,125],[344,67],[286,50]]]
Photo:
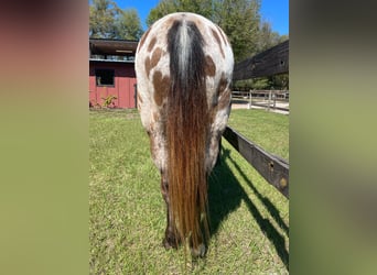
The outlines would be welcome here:
[[[274,249],[283,262],[287,270],[289,270],[289,253],[286,249],[286,240],[283,235],[274,228],[269,219],[261,216],[258,208],[250,200],[249,196],[245,191],[244,187],[238,183],[237,178],[233,174],[230,167],[227,165],[225,160],[228,160],[231,165],[241,175],[243,179],[248,184],[257,198],[262,202],[271,218],[274,219],[277,224],[289,234],[289,227],[280,217],[279,210],[273,206],[273,204],[263,197],[258,189],[254,186],[251,180],[246,176],[246,174],[240,169],[239,165],[231,158],[230,150],[222,148],[222,156],[216,164],[208,182],[208,205],[209,205],[209,227],[211,237],[214,237],[222,222],[244,201],[251,215],[251,217],[258,223],[260,230],[269,239],[269,241],[274,245]]]

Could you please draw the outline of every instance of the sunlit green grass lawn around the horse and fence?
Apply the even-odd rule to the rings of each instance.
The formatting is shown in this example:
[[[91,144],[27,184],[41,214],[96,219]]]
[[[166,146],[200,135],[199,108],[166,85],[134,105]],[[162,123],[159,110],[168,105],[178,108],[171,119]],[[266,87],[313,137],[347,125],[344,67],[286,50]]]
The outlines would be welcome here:
[[[235,110],[229,123],[288,157],[288,117],[276,116],[281,114]],[[288,273],[289,202],[225,140],[222,165],[209,178],[209,251],[185,267],[183,250],[161,245],[160,175],[138,112],[90,111],[89,127],[90,274]],[[272,138],[277,132],[286,133]],[[286,141],[277,145],[276,139]]]

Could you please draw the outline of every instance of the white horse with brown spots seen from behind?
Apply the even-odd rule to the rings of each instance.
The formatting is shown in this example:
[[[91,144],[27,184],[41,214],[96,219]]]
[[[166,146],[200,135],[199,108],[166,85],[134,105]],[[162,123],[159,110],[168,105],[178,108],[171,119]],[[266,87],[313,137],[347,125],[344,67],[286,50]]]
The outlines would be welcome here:
[[[161,173],[165,249],[204,256],[207,180],[230,113],[234,55],[224,31],[190,12],[155,21],[139,41],[134,68],[141,123]]]

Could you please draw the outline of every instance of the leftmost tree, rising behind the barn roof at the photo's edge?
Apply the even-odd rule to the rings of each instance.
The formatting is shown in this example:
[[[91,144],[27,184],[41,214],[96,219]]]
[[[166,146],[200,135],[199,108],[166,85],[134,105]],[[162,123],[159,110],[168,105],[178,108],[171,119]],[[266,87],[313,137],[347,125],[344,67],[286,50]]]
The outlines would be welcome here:
[[[89,36],[93,38],[115,38],[116,16],[120,13],[111,0],[93,0],[89,6]]]

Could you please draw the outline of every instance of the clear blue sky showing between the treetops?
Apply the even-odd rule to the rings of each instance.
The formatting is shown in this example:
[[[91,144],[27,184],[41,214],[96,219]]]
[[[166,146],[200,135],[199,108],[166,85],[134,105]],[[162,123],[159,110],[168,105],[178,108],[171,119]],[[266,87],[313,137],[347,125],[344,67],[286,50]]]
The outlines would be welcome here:
[[[133,8],[138,10],[141,23],[146,30],[146,20],[149,11],[153,9],[160,0],[115,0],[121,9]],[[289,34],[289,0],[262,0],[260,14],[268,21],[272,30],[280,35]]]

